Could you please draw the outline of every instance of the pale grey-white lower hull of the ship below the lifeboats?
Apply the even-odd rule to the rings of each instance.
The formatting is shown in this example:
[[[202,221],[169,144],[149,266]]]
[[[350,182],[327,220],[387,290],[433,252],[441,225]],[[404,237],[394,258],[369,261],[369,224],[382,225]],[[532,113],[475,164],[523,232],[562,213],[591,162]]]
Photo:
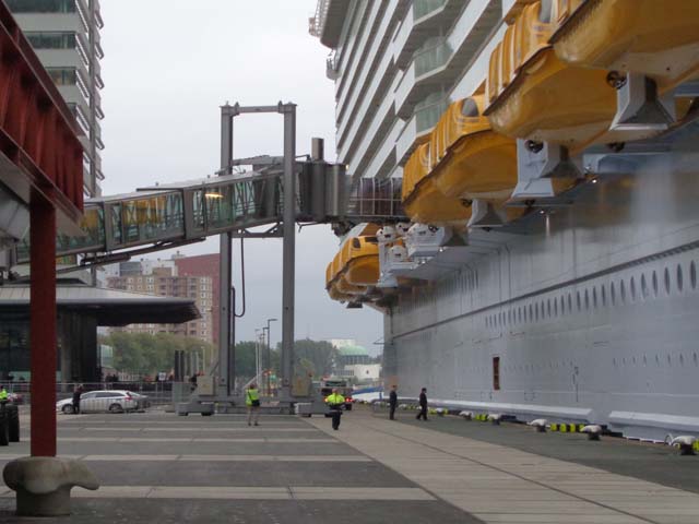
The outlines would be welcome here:
[[[699,432],[696,136],[600,177],[528,234],[472,234],[460,269],[386,315],[387,382],[522,420]]]

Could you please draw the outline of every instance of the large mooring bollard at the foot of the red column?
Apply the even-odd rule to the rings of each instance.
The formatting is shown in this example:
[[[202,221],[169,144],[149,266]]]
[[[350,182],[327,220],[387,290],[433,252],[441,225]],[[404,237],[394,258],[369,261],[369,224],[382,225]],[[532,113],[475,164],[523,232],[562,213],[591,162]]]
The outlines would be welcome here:
[[[97,479],[85,464],[56,456],[24,456],[2,471],[8,487],[17,493],[17,515],[58,516],[70,514],[73,486],[95,490]]]

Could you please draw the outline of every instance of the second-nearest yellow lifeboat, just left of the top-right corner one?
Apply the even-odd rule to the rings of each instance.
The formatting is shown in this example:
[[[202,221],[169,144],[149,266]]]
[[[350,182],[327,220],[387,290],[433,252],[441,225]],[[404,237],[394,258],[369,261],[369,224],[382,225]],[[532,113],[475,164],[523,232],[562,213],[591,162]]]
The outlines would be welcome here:
[[[490,56],[486,116],[508,136],[578,148],[604,133],[616,112],[607,72],[571,67],[548,44],[558,10],[531,3]]]

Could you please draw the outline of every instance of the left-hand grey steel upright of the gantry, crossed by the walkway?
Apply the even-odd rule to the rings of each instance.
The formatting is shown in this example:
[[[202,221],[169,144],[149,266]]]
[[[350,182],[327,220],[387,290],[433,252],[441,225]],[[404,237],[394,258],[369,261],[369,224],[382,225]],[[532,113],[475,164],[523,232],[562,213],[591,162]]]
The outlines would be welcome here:
[[[221,175],[233,172],[233,111],[226,104],[221,107]],[[205,198],[205,196],[204,196]],[[218,386],[225,395],[235,390],[235,349],[232,347],[233,311],[230,300],[232,255],[230,235],[220,236],[218,251]]]

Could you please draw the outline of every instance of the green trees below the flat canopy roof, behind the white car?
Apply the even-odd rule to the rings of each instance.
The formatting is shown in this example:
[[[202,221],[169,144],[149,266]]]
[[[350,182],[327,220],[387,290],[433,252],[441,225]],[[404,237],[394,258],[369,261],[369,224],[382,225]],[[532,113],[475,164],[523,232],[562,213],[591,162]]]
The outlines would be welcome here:
[[[204,355],[213,355],[213,346],[198,338],[173,335],[170,333],[123,333],[115,332],[102,337],[100,343],[114,347],[114,367],[118,371],[153,374],[168,372],[175,362],[175,352],[198,353],[200,362]]]

